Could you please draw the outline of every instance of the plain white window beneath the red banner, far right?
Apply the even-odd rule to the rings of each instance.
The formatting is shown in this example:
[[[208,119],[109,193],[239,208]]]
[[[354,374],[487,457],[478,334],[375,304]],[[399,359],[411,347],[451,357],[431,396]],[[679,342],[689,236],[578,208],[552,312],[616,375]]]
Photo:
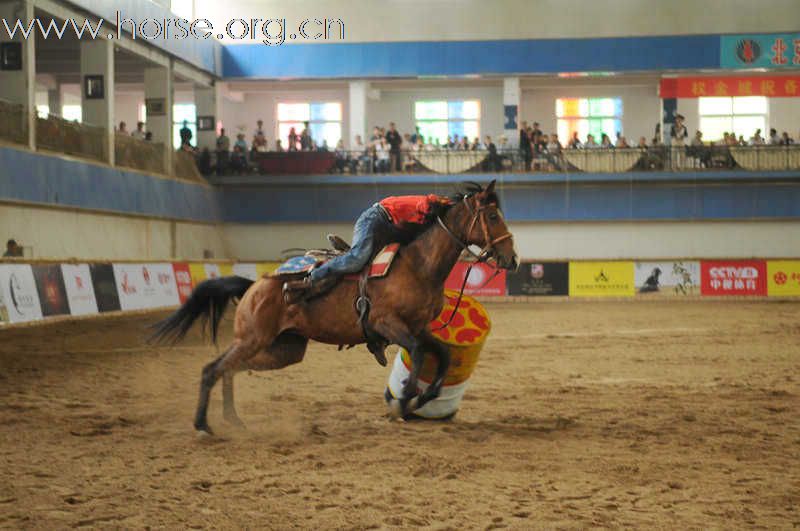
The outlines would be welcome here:
[[[697,105],[704,140],[719,140],[726,132],[749,139],[756,129],[761,136],[767,130],[766,97],[699,98]]]

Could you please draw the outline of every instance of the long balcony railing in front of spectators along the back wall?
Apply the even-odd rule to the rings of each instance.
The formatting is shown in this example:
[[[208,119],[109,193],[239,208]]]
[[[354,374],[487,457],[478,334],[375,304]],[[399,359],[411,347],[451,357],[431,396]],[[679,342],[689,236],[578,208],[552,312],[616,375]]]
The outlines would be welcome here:
[[[649,146],[642,148],[421,150],[399,156],[369,151],[292,152],[248,155],[209,154],[204,173],[217,175],[286,175],[382,173],[499,173],[652,171],[800,170],[800,145],[788,146]],[[264,163],[265,160],[270,162]],[[320,163],[322,160],[324,163]],[[276,161],[282,161],[277,163]],[[314,164],[311,161],[315,161]],[[327,161],[327,162],[325,162]]]

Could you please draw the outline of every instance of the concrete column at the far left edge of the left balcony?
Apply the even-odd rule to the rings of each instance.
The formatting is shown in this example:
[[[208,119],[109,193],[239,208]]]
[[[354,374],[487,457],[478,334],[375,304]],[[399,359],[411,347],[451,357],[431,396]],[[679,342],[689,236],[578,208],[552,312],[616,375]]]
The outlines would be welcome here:
[[[13,29],[17,21],[27,28],[33,19],[33,2],[30,0],[0,1],[0,18],[5,19]],[[27,130],[26,143],[31,149],[36,148],[36,38],[31,33],[25,39],[17,27],[12,39],[3,28],[0,31],[0,42],[16,42],[20,44],[22,67],[8,69],[2,65],[0,70],[0,98],[14,104],[22,105],[24,111],[19,117],[21,128]]]

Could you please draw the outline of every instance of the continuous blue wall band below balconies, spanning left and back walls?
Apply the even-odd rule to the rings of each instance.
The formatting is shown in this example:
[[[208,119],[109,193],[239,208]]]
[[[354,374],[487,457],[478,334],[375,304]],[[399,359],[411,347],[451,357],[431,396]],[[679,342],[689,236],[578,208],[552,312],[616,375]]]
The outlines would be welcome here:
[[[204,186],[0,147],[0,201],[206,223],[352,222],[389,195],[498,180],[511,221],[800,218],[800,172],[232,177]]]

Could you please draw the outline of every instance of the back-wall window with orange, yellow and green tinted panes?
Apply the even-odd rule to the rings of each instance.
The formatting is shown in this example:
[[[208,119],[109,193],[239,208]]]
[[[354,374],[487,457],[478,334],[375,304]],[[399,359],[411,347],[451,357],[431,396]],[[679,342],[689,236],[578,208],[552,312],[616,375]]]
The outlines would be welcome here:
[[[581,142],[591,134],[599,143],[603,133],[613,141],[622,133],[622,98],[559,98],[556,117],[558,137],[564,144],[575,132]]]

